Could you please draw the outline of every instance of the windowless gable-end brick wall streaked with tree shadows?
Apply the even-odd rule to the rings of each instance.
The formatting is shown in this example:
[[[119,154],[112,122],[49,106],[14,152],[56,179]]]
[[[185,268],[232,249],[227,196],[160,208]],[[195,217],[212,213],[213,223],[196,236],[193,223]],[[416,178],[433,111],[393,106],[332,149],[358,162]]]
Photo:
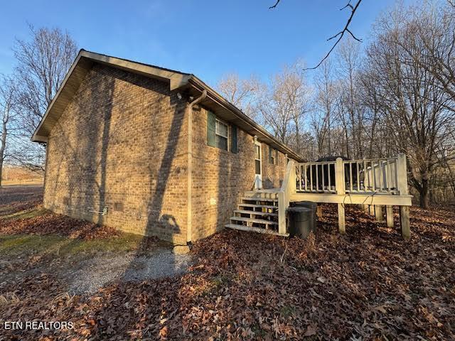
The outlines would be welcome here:
[[[186,242],[185,108],[166,82],[95,65],[50,132],[45,207]]]

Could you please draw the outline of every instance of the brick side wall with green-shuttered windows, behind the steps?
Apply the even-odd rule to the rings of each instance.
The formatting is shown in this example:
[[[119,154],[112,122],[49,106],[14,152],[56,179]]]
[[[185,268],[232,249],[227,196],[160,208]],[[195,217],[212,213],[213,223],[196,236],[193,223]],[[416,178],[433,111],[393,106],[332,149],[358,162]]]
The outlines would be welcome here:
[[[216,114],[216,113],[215,113]],[[193,111],[193,240],[207,237],[228,224],[233,210],[255,179],[253,136],[238,129],[238,153],[207,145],[207,112]],[[286,157],[278,152],[276,165],[269,163],[269,146],[262,144],[264,186],[281,185]]]

